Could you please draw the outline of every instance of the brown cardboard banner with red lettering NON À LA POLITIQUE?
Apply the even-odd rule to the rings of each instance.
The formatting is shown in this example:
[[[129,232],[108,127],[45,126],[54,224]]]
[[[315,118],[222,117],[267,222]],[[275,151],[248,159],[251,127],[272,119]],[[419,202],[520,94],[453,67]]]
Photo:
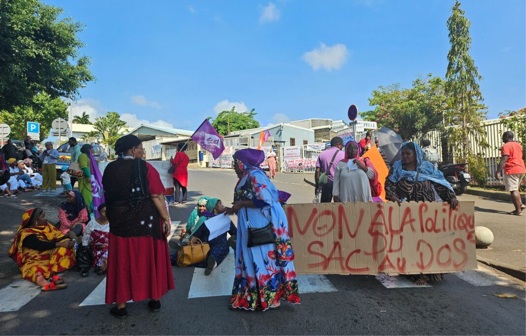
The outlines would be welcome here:
[[[297,274],[430,274],[477,268],[474,202],[289,204]]]

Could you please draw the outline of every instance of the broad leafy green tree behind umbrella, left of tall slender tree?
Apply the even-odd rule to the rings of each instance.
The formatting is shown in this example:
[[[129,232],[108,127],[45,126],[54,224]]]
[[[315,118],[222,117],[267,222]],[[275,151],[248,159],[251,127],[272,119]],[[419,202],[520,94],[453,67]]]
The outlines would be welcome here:
[[[404,140],[438,128],[446,110],[446,97],[443,79],[432,76],[417,78],[410,89],[401,89],[399,84],[380,86],[369,98],[369,105],[375,109],[360,116],[392,129]]]

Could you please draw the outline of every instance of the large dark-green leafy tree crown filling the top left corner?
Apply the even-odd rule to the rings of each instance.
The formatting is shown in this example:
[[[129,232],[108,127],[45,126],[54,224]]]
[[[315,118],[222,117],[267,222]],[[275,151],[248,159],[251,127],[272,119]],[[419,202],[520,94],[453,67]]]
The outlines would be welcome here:
[[[41,0],[0,1],[0,110],[30,106],[33,97],[75,98],[95,80],[91,59],[79,55],[84,25]]]

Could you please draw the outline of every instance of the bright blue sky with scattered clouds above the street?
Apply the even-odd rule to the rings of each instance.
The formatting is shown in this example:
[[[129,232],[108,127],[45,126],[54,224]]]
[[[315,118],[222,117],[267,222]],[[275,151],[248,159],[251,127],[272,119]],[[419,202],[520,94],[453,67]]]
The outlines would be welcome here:
[[[195,129],[218,111],[255,108],[267,125],[347,119],[378,86],[444,76],[454,1],[66,1],[84,23],[96,82],[74,113],[117,111],[129,125]],[[523,0],[466,0],[470,55],[488,117],[526,106]]]

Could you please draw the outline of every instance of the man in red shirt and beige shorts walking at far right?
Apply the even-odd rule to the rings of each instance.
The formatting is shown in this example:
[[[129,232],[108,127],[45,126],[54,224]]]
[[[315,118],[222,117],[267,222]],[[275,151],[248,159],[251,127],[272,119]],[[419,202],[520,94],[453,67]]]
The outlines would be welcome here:
[[[526,167],[524,160],[522,160],[522,147],[513,140],[513,133],[506,131],[502,133],[502,146],[499,167],[495,173],[495,177],[500,180],[500,171],[504,169],[504,187],[506,191],[511,194],[511,201],[515,206],[515,211],[510,212],[510,215],[522,216],[522,209],[526,208],[522,204],[521,195],[519,193],[519,186],[521,185]]]

